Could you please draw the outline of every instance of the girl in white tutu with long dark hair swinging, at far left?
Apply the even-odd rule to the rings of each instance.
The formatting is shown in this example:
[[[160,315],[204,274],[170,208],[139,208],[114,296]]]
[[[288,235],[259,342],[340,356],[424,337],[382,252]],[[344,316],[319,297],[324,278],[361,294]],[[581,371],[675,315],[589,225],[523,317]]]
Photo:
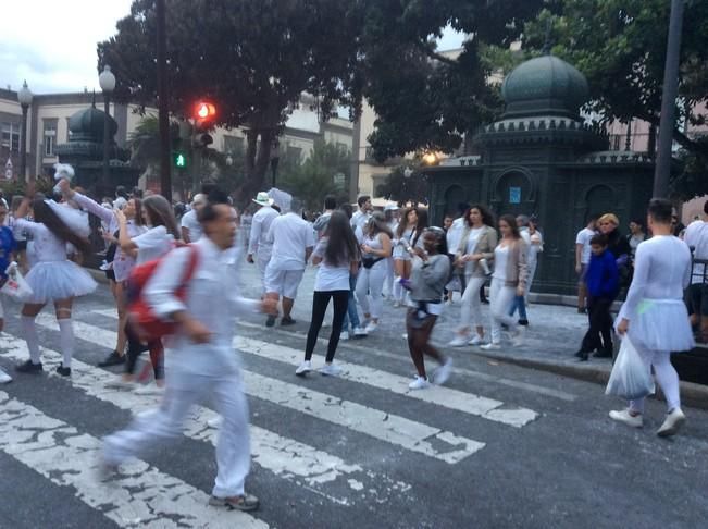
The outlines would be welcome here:
[[[96,290],[96,281],[86,270],[67,259],[69,245],[77,251],[88,251],[88,226],[76,210],[53,200],[30,199],[34,185],[17,209],[15,229],[32,235],[37,262],[25,278],[33,295],[22,308],[22,329],[29,350],[29,360],[17,366],[20,372],[41,372],[39,337],[35,318],[48,303],[54,304],[60,331],[62,365],[57,372],[69,377],[74,354],[72,304],[74,297]],[[32,207],[34,222],[24,217]]]

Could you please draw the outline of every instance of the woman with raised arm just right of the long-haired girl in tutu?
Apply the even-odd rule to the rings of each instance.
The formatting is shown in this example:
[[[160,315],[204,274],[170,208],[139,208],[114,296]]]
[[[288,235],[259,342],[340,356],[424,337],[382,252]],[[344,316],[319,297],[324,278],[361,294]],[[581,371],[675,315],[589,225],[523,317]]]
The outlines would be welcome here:
[[[111,209],[107,209],[97,201],[78,193],[78,188],[72,190],[71,184],[66,179],[59,181],[59,188],[65,200],[75,202],[79,208],[101,219],[101,222],[108,227],[108,234],[104,237],[117,244],[119,223]],[[141,235],[148,230],[142,221],[142,204],[139,198],[131,198],[123,207],[123,213],[126,218],[126,227],[131,238]],[[115,299],[119,313],[117,342],[115,349],[103,361],[99,362],[100,367],[117,366],[125,362],[127,336],[125,335],[126,312],[123,290],[124,283],[127,281],[134,266],[135,258],[123,251],[119,245],[115,249],[112,269],[110,270],[111,274],[109,275],[111,293]]]

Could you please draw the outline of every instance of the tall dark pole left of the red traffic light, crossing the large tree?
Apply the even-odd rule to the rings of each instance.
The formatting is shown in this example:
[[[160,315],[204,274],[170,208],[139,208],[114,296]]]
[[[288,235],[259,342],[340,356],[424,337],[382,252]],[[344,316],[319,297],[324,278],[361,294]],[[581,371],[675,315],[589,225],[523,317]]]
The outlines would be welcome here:
[[[156,0],[158,59],[158,121],[160,124],[160,193],[172,201],[170,109],[167,106],[166,35],[164,0]]]

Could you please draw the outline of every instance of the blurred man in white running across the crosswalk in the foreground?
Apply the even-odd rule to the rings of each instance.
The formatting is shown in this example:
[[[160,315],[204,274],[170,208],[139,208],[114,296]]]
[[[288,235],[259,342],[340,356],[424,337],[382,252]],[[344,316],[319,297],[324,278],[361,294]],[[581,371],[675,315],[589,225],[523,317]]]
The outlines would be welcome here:
[[[235,317],[243,312],[275,310],[272,300],[247,300],[238,295],[238,270],[229,249],[236,238],[233,208],[215,197],[199,213],[204,236],[194,247],[171,254],[145,286],[152,310],[177,323],[169,342],[167,387],[161,406],[123,431],[103,441],[102,470],[116,472],[119,466],[149,447],[179,435],[192,405],[211,401],[223,417],[216,443],[216,478],[210,505],[254,510],[259,500],[245,491],[250,469],[248,404],[244,394],[239,359],[232,346]],[[197,251],[197,269],[182,300],[175,292],[190,259]],[[227,288],[224,285],[228,285]]]

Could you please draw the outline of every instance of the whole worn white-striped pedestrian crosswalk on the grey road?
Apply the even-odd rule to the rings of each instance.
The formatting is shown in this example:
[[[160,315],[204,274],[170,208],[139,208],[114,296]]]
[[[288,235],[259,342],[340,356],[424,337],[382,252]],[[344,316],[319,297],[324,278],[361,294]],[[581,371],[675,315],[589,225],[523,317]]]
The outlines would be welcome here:
[[[92,345],[94,349],[110,350],[115,343],[114,318],[113,310],[102,309],[75,318],[77,341]],[[50,334],[57,329],[50,315],[40,315],[37,324]],[[368,455],[353,456],[355,451],[347,447],[349,443],[363,446],[364,452],[385,454],[383,459],[457,466],[479,457],[487,445],[485,440],[473,439],[474,421],[496,425],[493,428],[501,429],[505,434],[518,434],[514,432],[539,417],[532,409],[451,387],[413,392],[408,390],[406,377],[365,362],[339,362],[341,380],[334,387],[349,384],[363,390],[343,396],[333,391],[333,384],[314,389],[293,376],[291,367],[301,360],[299,349],[253,337],[237,337],[234,345],[247,359],[287,367],[289,373],[285,378],[283,369],[263,370],[258,361],[252,362],[254,366],[246,361],[244,379],[251,401],[263,403],[265,410],[277,410],[278,417],[287,417],[287,420],[263,421],[260,414],[253,417],[250,430],[253,472],[266,472],[275,483],[280,480],[290,483],[335,506],[401,501],[415,487],[407,476],[371,460]],[[12,334],[1,335],[0,357],[12,362],[25,360],[28,354],[24,341]],[[67,391],[79,392],[89,401],[133,414],[159,404],[159,396],[111,389],[109,383],[115,379],[114,373],[77,358],[70,379],[54,374],[52,368],[61,361],[61,355],[52,347],[42,349],[42,361],[49,377],[61,379]],[[41,379],[24,377],[16,383],[41,384]],[[45,415],[26,397],[25,402],[14,397],[12,386],[4,391],[0,392],[0,451],[53,483],[73,488],[80,501],[119,526],[153,524],[158,527],[158,520],[169,519],[174,527],[268,527],[258,513],[238,514],[238,519],[234,518],[236,513],[228,513],[232,518],[225,521],[223,512],[207,506],[208,495],[202,489],[165,473],[169,468],[158,469],[146,462],[123,468],[123,478],[112,482],[112,489],[98,487],[95,471],[100,441],[64,417]],[[405,406],[394,409],[389,399],[381,398],[372,404],[367,398],[371,392],[392,395],[392,399],[402,398]],[[420,406],[440,411],[432,416],[410,411]],[[450,420],[438,420],[437,415],[449,416]],[[213,458],[210,445],[218,432],[210,428],[209,421],[215,417],[208,407],[197,407],[185,423],[185,436],[204,445],[199,454],[207,460]],[[288,427],[293,421],[310,421],[313,428],[322,425],[330,432],[339,432],[339,442],[332,443],[316,434],[303,440]],[[116,422],[114,429],[124,426]]]

